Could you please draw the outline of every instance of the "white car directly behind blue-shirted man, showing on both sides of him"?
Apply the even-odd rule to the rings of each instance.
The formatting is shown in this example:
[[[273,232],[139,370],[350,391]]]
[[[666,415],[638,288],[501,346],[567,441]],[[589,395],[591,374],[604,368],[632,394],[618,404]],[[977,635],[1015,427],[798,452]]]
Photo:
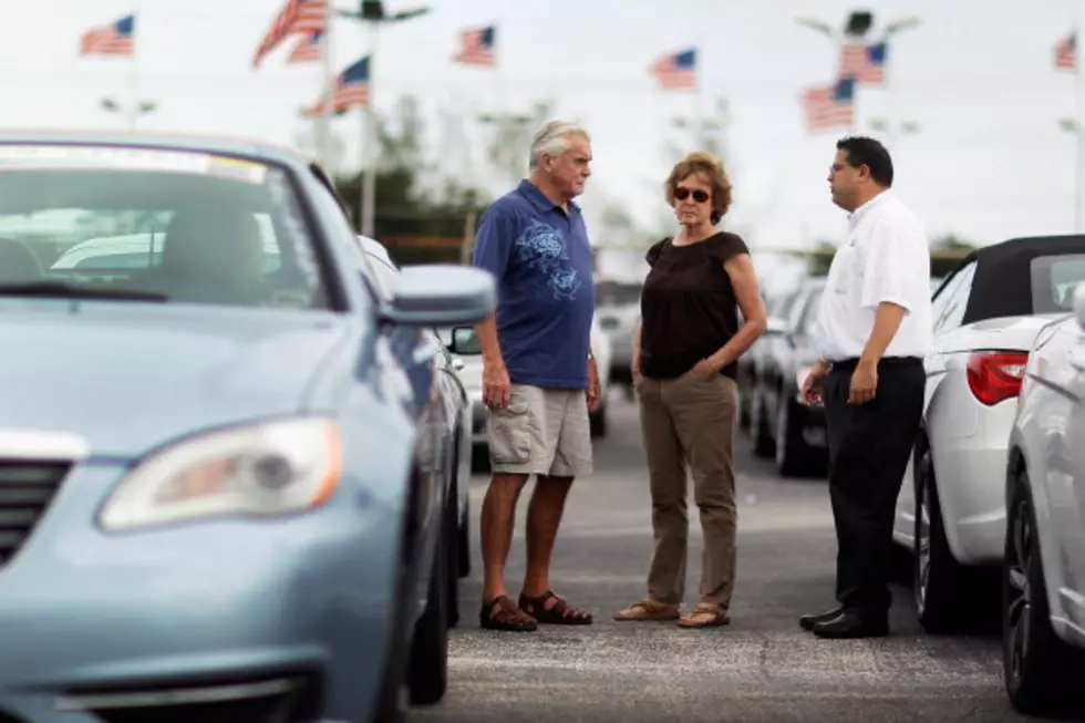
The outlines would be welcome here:
[[[486,441],[486,420],[489,411],[483,403],[483,360],[482,348],[475,337],[474,329],[442,330],[442,340],[454,357],[463,362],[459,378],[463,380],[467,395],[472,400],[472,444],[473,468],[486,469],[489,465],[489,447]],[[599,370],[599,384],[602,388],[602,405],[589,416],[591,435],[601,437],[607,434],[607,395],[610,390],[610,340],[599,328],[596,319],[591,321],[591,349],[596,355],[596,368]],[[587,363],[587,362],[585,362]]]

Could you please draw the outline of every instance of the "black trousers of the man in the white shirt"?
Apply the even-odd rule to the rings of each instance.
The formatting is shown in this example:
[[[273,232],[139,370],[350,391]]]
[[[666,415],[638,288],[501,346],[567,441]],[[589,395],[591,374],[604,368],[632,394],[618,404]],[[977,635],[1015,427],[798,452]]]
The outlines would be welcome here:
[[[892,605],[889,566],[897,495],[923,413],[923,362],[887,358],[866,404],[848,403],[855,360],[835,362],[822,390],[836,523],[836,598],[864,618]]]

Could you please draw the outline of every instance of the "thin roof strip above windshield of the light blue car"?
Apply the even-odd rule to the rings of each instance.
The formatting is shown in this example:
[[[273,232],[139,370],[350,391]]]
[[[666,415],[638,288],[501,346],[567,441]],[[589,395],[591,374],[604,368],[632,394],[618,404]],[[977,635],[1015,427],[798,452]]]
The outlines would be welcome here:
[[[131,148],[192,151],[244,156],[281,164],[308,165],[311,158],[266,141],[213,134],[145,131],[0,128],[0,144],[106,145]]]

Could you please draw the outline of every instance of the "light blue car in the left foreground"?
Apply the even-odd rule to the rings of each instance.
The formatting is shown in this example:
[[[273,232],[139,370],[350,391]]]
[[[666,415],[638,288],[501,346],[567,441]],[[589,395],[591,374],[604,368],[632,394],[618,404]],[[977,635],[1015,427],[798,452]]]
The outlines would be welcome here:
[[[496,291],[360,271],[290,152],[0,134],[0,722],[441,699],[466,479],[430,330]]]

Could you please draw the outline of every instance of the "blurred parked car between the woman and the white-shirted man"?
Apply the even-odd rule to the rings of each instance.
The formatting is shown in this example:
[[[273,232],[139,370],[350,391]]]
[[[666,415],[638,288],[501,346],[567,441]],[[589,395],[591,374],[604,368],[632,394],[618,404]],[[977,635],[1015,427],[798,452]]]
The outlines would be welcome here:
[[[757,359],[751,399],[754,454],[773,457],[781,475],[820,474],[828,457],[825,415],[798,399],[802,379],[814,364],[814,322],[824,277],[804,279],[788,316]]]

